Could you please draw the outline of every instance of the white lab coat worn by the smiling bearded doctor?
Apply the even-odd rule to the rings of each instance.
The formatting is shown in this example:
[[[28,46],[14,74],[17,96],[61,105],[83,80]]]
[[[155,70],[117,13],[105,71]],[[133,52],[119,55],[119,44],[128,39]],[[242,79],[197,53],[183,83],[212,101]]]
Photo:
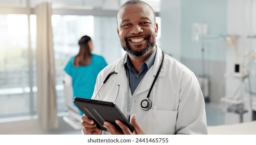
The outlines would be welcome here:
[[[161,50],[157,47],[155,62],[133,95],[128,89],[125,57],[106,66],[99,73],[92,98],[106,76],[116,71],[118,74],[112,75],[103,84],[96,99],[116,99],[115,104],[124,115],[136,114],[137,122],[146,134],[207,134],[204,96],[190,69],[165,55],[163,67],[150,95],[152,108],[145,111],[141,108],[141,101],[146,98],[161,63]]]

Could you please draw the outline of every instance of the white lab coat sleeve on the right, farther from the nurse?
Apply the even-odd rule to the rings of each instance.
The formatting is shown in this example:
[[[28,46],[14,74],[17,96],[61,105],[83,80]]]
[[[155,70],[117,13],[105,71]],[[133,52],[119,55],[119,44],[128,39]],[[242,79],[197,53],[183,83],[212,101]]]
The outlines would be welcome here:
[[[204,96],[193,72],[180,84],[177,134],[208,134]]]

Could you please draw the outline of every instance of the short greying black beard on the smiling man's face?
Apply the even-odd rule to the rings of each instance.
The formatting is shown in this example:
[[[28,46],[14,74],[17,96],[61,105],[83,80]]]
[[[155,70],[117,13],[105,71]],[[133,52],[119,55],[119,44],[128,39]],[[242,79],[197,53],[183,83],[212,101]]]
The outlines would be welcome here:
[[[156,44],[156,42],[152,42],[151,41],[150,35],[141,35],[141,36],[146,36],[146,39],[147,39],[147,46],[144,49],[142,49],[142,50],[132,50],[130,45],[129,45],[129,42],[128,42],[128,38],[131,38],[131,37],[125,37],[125,44],[126,44],[126,46],[122,46],[122,47],[132,57],[143,57],[143,56],[146,56],[147,54],[149,54],[150,50]]]

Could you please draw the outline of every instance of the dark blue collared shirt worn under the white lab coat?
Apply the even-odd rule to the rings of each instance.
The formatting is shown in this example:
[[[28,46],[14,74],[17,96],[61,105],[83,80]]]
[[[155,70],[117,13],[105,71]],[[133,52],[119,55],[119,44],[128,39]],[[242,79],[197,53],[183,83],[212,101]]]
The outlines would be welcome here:
[[[149,58],[146,59],[146,61],[140,66],[140,73],[137,72],[137,70],[133,67],[129,55],[126,55],[125,59],[125,68],[126,70],[129,71],[129,82],[130,82],[130,89],[131,89],[131,94],[134,93],[136,90],[137,86],[145,76],[147,70],[150,69],[150,67],[154,64],[156,57],[156,49],[155,51],[149,56]]]

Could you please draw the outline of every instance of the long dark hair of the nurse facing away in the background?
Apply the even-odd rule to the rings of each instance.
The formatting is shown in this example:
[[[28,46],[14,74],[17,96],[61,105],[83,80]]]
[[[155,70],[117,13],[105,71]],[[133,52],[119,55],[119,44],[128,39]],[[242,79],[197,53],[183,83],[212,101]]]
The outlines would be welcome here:
[[[91,62],[91,51],[88,45],[88,42],[91,41],[91,38],[87,35],[80,38],[78,45],[80,47],[78,54],[74,59],[74,66],[86,66]]]

